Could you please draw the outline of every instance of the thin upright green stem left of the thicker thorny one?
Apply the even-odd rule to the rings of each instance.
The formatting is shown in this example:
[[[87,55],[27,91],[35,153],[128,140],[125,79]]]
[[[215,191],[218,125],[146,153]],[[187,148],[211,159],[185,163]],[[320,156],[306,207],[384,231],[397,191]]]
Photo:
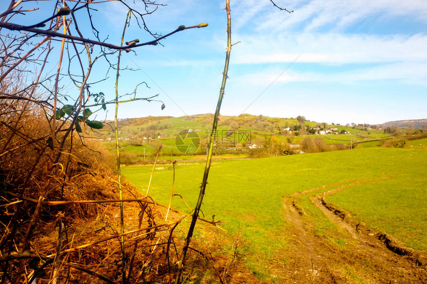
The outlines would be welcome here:
[[[128,25],[129,16],[131,14],[131,10],[128,11],[128,15],[126,16],[125,27],[123,28],[122,34],[122,42],[121,46],[123,46],[123,41],[125,38],[126,26]],[[119,104],[117,103],[119,100],[119,76],[120,76],[120,57],[122,55],[122,51],[119,51],[118,59],[117,59],[117,73],[116,73],[116,112],[114,115],[114,131],[116,134],[116,155],[117,155],[117,179],[119,183],[119,196],[120,200],[123,199],[122,192],[122,182],[121,182],[121,172],[120,172],[120,153],[119,153],[119,129],[117,127],[117,113],[119,110]],[[123,202],[120,203],[120,233],[124,233],[124,220],[123,220]],[[122,248],[122,280],[123,284],[126,284],[126,254],[125,254],[125,237],[124,235],[120,238],[120,246]]]

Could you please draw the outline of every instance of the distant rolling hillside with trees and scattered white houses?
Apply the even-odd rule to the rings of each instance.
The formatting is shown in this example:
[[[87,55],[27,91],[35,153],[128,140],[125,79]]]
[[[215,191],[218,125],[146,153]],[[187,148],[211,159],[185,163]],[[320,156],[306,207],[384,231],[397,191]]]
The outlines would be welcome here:
[[[318,151],[342,150],[356,146],[379,147],[385,140],[393,138],[391,133],[385,133],[382,128],[373,125],[337,125],[304,120],[300,116],[297,118],[252,114],[222,115],[219,117],[215,137],[215,145],[219,149],[216,154],[237,155],[234,158],[252,157],[253,149],[265,147],[268,141],[275,141],[279,148],[287,151],[286,153],[299,154],[307,151],[299,147],[307,138],[313,141],[317,139],[317,144],[322,141],[324,145],[319,148],[322,150]],[[181,117],[148,116],[120,120],[119,140],[123,162],[125,164],[152,162],[160,144],[162,145],[160,160],[199,159],[193,156],[204,154],[209,142],[212,121],[213,114]],[[104,129],[98,137],[109,149],[113,149],[114,133],[111,127]],[[417,131],[419,130],[413,130],[412,134],[416,134]],[[401,132],[405,134],[403,130]],[[275,137],[274,140],[271,137]],[[180,138],[182,140],[178,141]],[[281,151],[277,150],[273,156],[279,155]]]

